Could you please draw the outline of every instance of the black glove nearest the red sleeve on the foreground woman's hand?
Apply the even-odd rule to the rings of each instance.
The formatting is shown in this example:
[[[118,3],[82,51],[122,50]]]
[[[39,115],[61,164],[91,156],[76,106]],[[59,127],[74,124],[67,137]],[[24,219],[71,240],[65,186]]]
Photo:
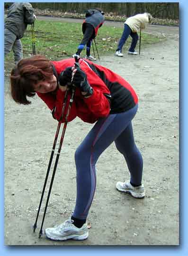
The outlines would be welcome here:
[[[87,80],[87,75],[79,68],[77,68],[74,74],[72,83],[81,89],[82,92],[88,92],[90,90],[90,84]]]

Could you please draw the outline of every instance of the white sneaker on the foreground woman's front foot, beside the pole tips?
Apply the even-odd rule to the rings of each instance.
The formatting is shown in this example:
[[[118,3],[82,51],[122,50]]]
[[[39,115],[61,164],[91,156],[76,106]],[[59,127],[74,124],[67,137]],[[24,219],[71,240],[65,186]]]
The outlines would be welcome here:
[[[72,219],[65,220],[62,224],[45,229],[45,234],[52,240],[62,241],[67,239],[84,240],[88,238],[88,225],[85,223],[81,228],[74,226]]]

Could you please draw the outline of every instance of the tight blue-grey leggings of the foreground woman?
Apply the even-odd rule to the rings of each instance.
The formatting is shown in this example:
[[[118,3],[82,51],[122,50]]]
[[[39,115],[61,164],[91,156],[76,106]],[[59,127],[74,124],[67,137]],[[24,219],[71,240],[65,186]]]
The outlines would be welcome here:
[[[131,182],[133,184],[142,183],[143,158],[135,145],[131,123],[137,108],[138,105],[124,113],[100,118],[77,148],[75,152],[77,198],[73,217],[87,218],[96,188],[95,164],[102,152],[113,141],[115,141],[117,150],[123,154],[126,160]],[[109,168],[113,167],[109,165]]]

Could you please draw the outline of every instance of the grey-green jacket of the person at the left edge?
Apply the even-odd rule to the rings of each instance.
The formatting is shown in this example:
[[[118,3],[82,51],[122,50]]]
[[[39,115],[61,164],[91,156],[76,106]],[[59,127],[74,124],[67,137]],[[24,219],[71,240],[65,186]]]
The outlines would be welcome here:
[[[17,39],[23,37],[27,24],[35,22],[34,9],[28,2],[13,3],[9,7],[7,18],[5,19],[5,29],[13,32]]]

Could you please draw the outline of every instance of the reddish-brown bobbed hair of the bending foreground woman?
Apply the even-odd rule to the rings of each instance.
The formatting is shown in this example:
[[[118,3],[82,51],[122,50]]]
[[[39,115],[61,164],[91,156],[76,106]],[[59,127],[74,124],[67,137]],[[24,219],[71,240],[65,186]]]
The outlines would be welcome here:
[[[27,97],[34,97],[34,85],[40,80],[51,79],[53,68],[50,60],[42,55],[21,59],[10,74],[11,96],[19,104],[30,104]]]

